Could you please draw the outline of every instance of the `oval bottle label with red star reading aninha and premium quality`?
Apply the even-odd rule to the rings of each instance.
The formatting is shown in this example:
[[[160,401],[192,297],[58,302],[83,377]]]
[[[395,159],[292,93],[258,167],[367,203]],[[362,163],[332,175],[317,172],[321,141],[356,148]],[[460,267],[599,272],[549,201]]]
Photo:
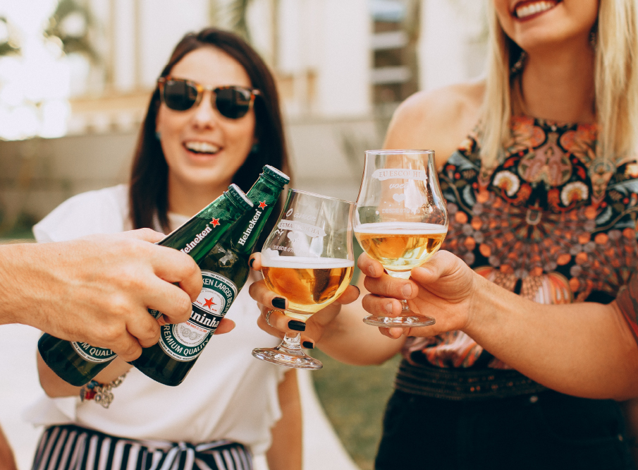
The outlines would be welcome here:
[[[202,354],[219,321],[237,296],[237,286],[216,272],[202,271],[204,287],[192,303],[190,320],[161,327],[159,346],[176,361],[190,362]]]

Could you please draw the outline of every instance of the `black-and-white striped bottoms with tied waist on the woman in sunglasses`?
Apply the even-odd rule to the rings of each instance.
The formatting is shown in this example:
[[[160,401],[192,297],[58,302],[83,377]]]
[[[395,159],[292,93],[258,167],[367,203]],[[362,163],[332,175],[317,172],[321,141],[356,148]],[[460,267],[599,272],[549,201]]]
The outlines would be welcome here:
[[[40,438],[32,470],[252,470],[239,442],[139,441],[75,425],[51,426]]]

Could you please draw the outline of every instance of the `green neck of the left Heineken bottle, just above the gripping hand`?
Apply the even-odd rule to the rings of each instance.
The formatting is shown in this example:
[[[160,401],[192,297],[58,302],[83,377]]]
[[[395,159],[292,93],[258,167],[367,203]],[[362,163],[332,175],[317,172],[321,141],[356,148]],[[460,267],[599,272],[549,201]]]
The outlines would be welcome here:
[[[182,251],[200,263],[240,215],[240,207],[223,194],[158,244]]]

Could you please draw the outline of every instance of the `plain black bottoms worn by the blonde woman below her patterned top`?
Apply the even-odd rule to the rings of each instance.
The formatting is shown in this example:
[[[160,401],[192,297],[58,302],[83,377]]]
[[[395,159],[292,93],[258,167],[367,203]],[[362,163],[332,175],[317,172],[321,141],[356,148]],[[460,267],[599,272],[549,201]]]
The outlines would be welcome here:
[[[552,390],[450,400],[396,390],[377,470],[635,470],[618,403]]]

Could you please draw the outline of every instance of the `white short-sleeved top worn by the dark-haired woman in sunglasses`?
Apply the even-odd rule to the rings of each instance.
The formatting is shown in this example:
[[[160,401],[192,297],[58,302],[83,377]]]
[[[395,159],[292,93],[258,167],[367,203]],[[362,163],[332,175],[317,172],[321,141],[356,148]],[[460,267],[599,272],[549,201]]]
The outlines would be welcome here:
[[[188,217],[170,215],[171,226]],[[130,229],[128,186],[90,191],[62,203],[34,228],[37,241],[66,241]],[[171,227],[176,228],[176,227]],[[254,347],[274,347],[278,339],[257,327],[259,309],[245,284],[227,313],[236,327],[215,335],[178,387],[161,385],[132,368],[114,402],[104,409],[77,397],[44,397],[27,413],[36,424],[75,422],[104,433],[140,440],[197,444],[230,439],[262,454],[270,428],[281,417],[277,386],[286,369],[251,356]]]

